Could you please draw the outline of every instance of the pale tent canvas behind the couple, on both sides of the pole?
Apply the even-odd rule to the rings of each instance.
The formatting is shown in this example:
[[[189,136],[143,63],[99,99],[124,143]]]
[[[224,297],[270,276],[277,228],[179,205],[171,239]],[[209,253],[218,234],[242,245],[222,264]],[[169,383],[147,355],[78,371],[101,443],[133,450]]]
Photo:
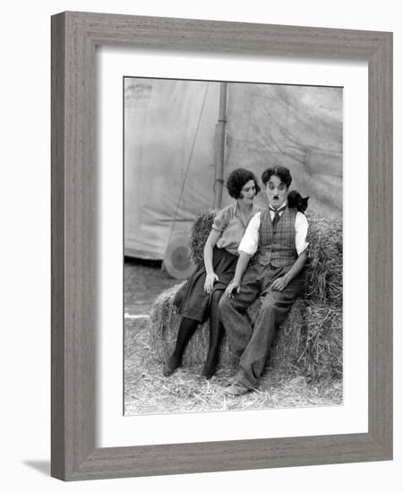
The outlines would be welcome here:
[[[125,255],[164,259],[213,206],[219,86],[124,79]],[[224,177],[282,164],[310,209],[341,215],[342,88],[228,82],[226,103]],[[232,200],[224,187],[221,206]]]

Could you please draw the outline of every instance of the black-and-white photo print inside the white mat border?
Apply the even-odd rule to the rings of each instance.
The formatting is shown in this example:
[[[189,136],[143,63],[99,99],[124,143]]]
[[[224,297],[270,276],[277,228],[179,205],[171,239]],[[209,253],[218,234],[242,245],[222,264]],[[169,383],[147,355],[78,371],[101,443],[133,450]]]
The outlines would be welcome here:
[[[342,87],[124,77],[125,415],[343,403],[342,150]]]

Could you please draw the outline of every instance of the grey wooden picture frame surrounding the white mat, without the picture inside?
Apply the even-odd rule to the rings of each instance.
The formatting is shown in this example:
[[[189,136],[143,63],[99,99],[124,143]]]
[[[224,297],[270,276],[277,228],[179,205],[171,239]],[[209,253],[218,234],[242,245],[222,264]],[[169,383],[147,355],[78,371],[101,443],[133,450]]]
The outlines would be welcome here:
[[[97,45],[368,62],[368,433],[96,448]],[[391,33],[104,13],[52,17],[53,476],[87,480],[391,459],[391,314]]]

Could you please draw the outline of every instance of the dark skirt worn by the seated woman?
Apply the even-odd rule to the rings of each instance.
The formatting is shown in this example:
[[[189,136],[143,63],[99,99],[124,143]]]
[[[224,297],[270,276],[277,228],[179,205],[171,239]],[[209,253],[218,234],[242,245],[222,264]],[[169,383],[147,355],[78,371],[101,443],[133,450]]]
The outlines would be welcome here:
[[[222,294],[226,290],[227,285],[234,278],[237,261],[238,257],[227,252],[225,248],[214,247],[212,264],[219,281],[214,282],[210,295],[204,292],[206,268],[201,261],[184,286],[176,293],[174,305],[178,308],[178,312],[186,318],[204,323],[209,317],[212,294],[215,291],[221,291]]]

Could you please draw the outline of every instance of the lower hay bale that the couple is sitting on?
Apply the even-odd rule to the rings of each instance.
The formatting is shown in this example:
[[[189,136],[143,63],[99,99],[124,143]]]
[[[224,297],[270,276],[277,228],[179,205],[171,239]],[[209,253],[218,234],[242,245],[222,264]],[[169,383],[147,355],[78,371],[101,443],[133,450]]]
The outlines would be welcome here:
[[[180,316],[172,301],[178,284],[164,291],[156,299],[150,319],[150,347],[154,356],[163,363],[175,347]],[[248,309],[252,322],[260,309],[257,300]],[[322,306],[313,301],[296,299],[285,322],[273,342],[268,365],[282,373],[304,376],[309,382],[321,383],[341,378],[342,363],[342,310]],[[184,365],[204,362],[209,347],[209,322],[202,324],[184,351]],[[236,356],[231,352],[227,337],[221,346],[220,364],[234,368]]]

